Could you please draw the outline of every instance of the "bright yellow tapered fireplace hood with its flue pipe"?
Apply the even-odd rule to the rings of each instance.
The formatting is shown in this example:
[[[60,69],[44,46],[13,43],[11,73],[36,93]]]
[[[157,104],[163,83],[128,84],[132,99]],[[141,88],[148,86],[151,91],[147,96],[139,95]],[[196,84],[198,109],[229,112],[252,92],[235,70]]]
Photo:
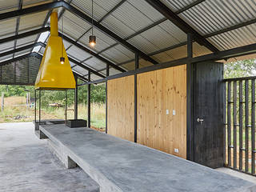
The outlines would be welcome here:
[[[62,42],[58,37],[58,14],[50,15],[50,38],[42,57],[35,81],[35,89],[66,90],[75,88],[74,75]],[[57,28],[57,30],[56,30]],[[60,58],[65,58],[62,64]]]

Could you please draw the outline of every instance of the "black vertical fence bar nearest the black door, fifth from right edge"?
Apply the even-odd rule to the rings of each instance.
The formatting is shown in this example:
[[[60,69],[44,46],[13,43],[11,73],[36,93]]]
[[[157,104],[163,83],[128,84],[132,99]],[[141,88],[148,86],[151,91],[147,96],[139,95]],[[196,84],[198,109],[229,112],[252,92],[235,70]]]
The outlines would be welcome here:
[[[227,84],[227,162],[231,166],[231,82]]]

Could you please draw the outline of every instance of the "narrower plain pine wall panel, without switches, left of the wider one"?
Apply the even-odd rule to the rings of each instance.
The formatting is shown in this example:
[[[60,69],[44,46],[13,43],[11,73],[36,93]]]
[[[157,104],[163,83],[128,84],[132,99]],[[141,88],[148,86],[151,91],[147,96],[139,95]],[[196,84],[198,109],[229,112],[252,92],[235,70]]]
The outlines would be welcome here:
[[[134,142],[134,76],[107,82],[108,134]]]

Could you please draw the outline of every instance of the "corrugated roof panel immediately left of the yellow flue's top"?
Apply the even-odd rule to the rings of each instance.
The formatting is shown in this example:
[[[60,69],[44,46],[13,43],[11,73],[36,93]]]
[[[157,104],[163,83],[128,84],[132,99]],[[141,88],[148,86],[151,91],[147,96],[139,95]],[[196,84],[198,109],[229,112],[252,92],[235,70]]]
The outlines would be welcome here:
[[[47,13],[48,11],[42,11],[39,13],[22,16],[19,22],[18,30],[26,30],[33,27],[41,27],[42,23],[46,18]]]

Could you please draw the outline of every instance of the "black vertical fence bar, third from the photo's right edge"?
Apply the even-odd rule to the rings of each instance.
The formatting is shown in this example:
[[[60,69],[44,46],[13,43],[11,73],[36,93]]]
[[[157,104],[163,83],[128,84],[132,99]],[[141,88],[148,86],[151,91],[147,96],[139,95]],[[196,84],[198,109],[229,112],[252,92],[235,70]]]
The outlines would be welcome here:
[[[242,170],[242,80],[239,81],[239,170]]]

